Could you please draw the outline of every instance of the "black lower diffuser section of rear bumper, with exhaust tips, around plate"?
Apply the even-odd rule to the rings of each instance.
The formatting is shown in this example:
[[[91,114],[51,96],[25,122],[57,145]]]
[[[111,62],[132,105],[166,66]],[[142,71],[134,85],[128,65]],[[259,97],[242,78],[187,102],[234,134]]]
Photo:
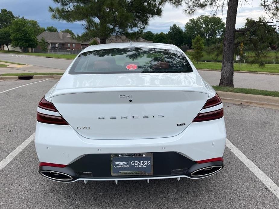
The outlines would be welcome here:
[[[164,179],[186,177],[199,179],[219,172],[223,161],[214,161],[198,164],[177,152],[153,153],[154,173],[151,176],[111,176],[110,154],[87,154],[66,167],[40,166],[39,173],[43,176],[61,182],[75,182],[78,180],[135,180],[135,179]],[[193,172],[213,167],[208,175],[193,174]],[[214,170],[215,169],[215,170]],[[66,174],[65,179],[57,179],[55,175],[49,176],[49,171]],[[90,173],[90,175],[88,175]],[[69,177],[69,178],[68,178]]]

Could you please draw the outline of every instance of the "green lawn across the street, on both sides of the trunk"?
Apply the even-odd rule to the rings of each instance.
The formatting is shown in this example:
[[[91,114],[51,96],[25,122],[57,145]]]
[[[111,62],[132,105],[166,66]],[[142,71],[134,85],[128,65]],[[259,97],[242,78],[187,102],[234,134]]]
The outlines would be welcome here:
[[[197,69],[210,69],[221,70],[222,63],[220,62],[193,62]],[[279,64],[265,64],[264,68],[258,67],[258,64],[233,64],[234,70],[250,71],[250,72],[267,72],[267,73],[279,73]]]

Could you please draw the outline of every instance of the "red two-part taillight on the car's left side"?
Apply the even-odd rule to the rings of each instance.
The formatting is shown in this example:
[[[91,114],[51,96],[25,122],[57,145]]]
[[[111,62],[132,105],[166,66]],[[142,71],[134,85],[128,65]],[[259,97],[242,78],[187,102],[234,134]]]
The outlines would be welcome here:
[[[58,112],[55,106],[51,102],[47,101],[45,97],[41,99],[38,107],[48,111]],[[40,123],[49,123],[55,125],[69,125],[62,116],[43,114],[39,112],[37,112],[37,121]]]

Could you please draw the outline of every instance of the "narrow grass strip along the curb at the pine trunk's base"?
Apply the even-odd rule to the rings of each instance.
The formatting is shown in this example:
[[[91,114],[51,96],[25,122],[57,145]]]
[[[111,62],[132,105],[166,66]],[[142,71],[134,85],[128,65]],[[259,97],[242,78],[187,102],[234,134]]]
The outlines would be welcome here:
[[[244,88],[232,88],[227,86],[212,86],[216,91],[222,92],[234,92],[242,94],[255,94],[255,95],[264,95],[264,96],[274,96],[279,97],[279,92],[275,91],[266,91],[258,89],[244,89]]]

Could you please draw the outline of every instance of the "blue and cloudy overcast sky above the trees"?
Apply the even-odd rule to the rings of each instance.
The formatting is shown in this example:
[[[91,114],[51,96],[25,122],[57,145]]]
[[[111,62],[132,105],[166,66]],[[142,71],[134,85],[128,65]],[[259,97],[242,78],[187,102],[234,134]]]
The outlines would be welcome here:
[[[242,5],[239,7],[238,14],[236,17],[236,28],[242,27],[247,17],[258,18],[265,15],[265,12],[259,7],[261,0],[248,0],[252,2],[250,4]],[[41,27],[55,26],[58,30],[64,30],[66,28],[71,29],[74,33],[81,34],[83,29],[81,23],[66,23],[52,20],[51,14],[48,11],[49,6],[55,6],[52,0],[0,0],[0,9],[6,8],[13,12],[14,15],[24,16],[27,19],[37,20]],[[154,18],[150,21],[147,30],[154,33],[156,32],[168,32],[171,25],[176,23],[184,30],[185,23],[191,19],[198,17],[202,14],[210,15],[211,9],[200,10],[193,16],[187,16],[183,14],[183,8],[173,8],[170,5],[166,5],[163,8],[162,17]],[[227,8],[224,10],[223,15],[220,13],[217,16],[222,17],[223,21],[226,22]]]

